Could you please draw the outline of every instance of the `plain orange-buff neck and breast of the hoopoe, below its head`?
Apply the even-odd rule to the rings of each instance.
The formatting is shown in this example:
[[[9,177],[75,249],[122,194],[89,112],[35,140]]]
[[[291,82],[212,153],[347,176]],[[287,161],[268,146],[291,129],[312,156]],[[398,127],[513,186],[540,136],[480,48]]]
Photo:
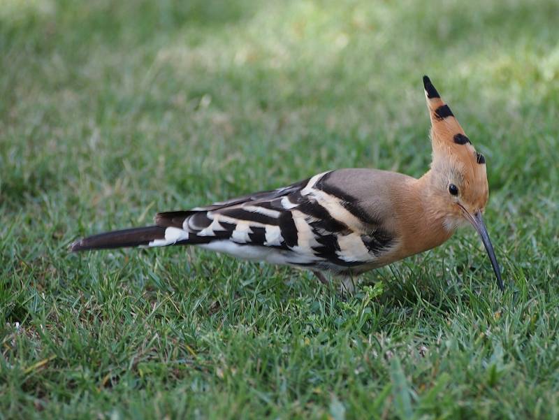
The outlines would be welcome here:
[[[407,255],[437,247],[454,233],[445,224],[444,203],[434,187],[435,173],[428,171],[412,180],[400,198],[402,252]]]

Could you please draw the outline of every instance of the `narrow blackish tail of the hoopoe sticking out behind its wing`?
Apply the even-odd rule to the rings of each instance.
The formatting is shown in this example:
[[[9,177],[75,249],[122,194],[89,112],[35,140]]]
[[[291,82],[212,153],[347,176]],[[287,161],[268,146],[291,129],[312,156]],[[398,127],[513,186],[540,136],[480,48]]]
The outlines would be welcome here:
[[[110,249],[122,247],[137,247],[149,245],[154,240],[165,239],[166,228],[163,226],[147,226],[143,228],[124,229],[99,233],[73,242],[72,252],[87,251],[88,249]]]

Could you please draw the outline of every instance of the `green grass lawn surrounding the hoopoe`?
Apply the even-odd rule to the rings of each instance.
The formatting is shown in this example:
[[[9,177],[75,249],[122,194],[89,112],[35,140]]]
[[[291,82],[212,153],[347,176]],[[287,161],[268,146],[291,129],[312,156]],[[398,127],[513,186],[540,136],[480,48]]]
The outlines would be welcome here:
[[[556,0],[0,1],[0,419],[559,417]],[[333,168],[420,176],[430,75],[473,229],[343,301],[89,233]]]

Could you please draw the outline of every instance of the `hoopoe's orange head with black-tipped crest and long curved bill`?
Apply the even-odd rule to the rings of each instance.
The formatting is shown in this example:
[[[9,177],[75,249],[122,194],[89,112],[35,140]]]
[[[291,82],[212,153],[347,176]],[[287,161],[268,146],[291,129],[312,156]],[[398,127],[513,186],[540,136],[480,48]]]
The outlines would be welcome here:
[[[482,214],[485,210],[489,186],[485,158],[476,152],[449,106],[427,76],[423,76],[427,106],[431,119],[433,163],[430,180],[437,208],[444,214],[449,231],[470,222],[484,242],[500,289],[503,289],[500,269]]]

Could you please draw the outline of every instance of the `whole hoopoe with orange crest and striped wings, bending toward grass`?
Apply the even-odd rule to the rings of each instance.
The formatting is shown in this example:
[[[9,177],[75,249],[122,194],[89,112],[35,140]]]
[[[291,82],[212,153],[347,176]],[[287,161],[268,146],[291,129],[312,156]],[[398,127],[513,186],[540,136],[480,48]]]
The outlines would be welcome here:
[[[476,152],[427,76],[433,163],[416,179],[365,168],[338,169],[288,187],[191,210],[161,212],[155,225],[89,236],[73,252],[198,245],[253,261],[352,279],[441,245],[458,226],[481,237],[502,290],[482,213],[488,201],[484,156]],[[351,284],[353,282],[351,281]]]

